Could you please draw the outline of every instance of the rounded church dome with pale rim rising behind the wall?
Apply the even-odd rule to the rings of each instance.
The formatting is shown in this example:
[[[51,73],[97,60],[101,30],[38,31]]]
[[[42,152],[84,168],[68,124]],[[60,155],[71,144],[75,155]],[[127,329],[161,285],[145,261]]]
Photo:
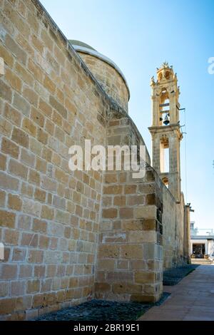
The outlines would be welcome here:
[[[76,40],[69,40],[69,42],[108,96],[128,112],[129,88],[123,72],[116,63],[86,43]]]

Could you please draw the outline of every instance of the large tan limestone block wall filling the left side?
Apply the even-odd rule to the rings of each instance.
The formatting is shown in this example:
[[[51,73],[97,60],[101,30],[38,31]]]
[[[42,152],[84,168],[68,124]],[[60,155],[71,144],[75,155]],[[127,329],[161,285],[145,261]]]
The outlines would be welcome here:
[[[38,1],[0,11],[0,314],[31,319],[93,294],[103,176],[68,148],[106,144],[108,103]]]

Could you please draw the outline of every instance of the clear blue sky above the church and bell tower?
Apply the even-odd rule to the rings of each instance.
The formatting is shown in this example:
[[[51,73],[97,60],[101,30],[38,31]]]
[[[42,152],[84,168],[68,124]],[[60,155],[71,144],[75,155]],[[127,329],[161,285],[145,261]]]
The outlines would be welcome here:
[[[129,114],[151,153],[150,78],[163,61],[178,73],[186,108],[187,173],[181,144],[182,188],[195,226],[214,229],[213,0],[41,0],[68,39],[88,43],[123,71],[131,91]],[[182,113],[182,112],[181,112]],[[183,115],[180,117],[183,124]]]

